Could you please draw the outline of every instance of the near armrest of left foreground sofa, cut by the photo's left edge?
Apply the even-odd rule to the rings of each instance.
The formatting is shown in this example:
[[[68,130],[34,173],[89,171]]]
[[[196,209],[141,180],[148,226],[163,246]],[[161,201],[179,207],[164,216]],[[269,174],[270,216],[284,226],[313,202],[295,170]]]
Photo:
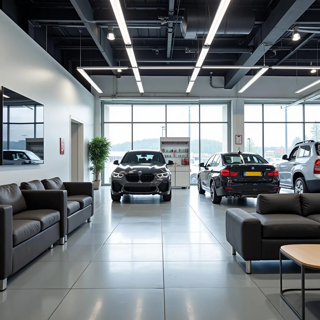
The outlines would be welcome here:
[[[0,205],[0,280],[12,274],[12,206]]]

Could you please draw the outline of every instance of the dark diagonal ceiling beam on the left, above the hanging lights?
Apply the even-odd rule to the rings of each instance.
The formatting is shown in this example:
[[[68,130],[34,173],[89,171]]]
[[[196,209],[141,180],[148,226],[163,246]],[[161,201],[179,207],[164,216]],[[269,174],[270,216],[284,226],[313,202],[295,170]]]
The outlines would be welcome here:
[[[78,13],[81,20],[83,21],[93,20],[93,11],[88,0],[70,0],[70,1],[71,1],[71,4],[76,9],[76,12]],[[99,48],[103,57],[108,62],[108,65],[110,67],[114,67],[116,63],[113,58],[112,48],[104,32],[101,30],[101,28],[97,27],[96,23],[84,22],[84,25],[87,28],[90,35],[92,36],[93,41]],[[116,74],[116,71],[114,71],[114,74]]]

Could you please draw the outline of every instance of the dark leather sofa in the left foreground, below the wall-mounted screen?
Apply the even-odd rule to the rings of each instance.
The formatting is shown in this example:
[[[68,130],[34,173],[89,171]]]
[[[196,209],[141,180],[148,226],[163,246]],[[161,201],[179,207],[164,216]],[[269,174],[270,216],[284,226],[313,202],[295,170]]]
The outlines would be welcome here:
[[[67,191],[0,186],[0,291],[7,277],[67,234]]]

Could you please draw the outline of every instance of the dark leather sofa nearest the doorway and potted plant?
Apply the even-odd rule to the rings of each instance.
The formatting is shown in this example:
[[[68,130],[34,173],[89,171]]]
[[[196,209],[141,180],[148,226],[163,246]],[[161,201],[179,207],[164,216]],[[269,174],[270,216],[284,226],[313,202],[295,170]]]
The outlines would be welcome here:
[[[21,189],[29,190],[66,190],[67,191],[67,234],[79,227],[85,220],[91,221],[93,216],[93,183],[62,182],[58,177],[44,180],[22,182]]]

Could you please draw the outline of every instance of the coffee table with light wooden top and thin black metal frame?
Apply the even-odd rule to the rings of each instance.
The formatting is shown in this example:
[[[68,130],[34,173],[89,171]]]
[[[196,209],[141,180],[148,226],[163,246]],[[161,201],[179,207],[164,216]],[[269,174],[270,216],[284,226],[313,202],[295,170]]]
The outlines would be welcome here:
[[[282,256],[295,262],[301,267],[301,289],[285,289],[282,290]],[[280,248],[280,295],[284,302],[292,309],[300,320],[305,320],[305,291],[318,291],[318,288],[305,288],[305,268],[319,270],[320,269],[320,244],[289,244]],[[302,315],[293,308],[289,301],[284,298],[284,292],[301,291],[302,299]]]

